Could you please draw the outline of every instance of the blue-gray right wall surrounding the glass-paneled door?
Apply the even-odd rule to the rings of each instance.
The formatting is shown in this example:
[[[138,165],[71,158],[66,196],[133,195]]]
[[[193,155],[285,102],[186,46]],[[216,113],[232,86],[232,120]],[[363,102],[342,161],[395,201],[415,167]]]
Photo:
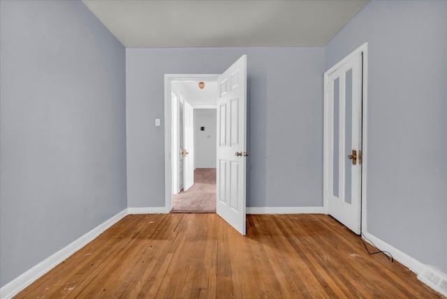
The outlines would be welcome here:
[[[325,48],[369,42],[367,229],[447,272],[447,1],[372,1]]]

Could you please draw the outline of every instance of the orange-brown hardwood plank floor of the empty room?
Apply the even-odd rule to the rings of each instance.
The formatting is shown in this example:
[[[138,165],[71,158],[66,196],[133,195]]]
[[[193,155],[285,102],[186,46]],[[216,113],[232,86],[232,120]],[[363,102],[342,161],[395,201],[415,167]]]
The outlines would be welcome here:
[[[372,247],[369,247],[373,250]],[[321,214],[129,215],[15,298],[442,298]]]

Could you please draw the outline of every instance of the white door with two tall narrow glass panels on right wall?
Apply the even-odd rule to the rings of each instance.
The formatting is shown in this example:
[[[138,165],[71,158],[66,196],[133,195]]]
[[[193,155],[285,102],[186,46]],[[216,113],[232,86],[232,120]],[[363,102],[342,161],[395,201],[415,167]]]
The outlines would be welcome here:
[[[356,234],[361,224],[362,52],[325,72],[326,212]]]

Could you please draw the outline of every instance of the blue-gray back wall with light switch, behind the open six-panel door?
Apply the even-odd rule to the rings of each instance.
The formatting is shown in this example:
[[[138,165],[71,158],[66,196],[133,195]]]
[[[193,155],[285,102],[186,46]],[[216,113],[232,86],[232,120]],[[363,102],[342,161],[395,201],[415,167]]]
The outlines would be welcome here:
[[[163,75],[248,55],[247,206],[323,205],[324,48],[126,49],[129,207],[164,206]]]

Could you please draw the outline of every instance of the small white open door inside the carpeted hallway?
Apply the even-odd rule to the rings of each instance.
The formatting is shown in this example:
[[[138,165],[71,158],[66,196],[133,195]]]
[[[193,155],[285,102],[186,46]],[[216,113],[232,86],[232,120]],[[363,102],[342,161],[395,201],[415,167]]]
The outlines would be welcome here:
[[[183,191],[194,184],[194,110],[183,102]]]

